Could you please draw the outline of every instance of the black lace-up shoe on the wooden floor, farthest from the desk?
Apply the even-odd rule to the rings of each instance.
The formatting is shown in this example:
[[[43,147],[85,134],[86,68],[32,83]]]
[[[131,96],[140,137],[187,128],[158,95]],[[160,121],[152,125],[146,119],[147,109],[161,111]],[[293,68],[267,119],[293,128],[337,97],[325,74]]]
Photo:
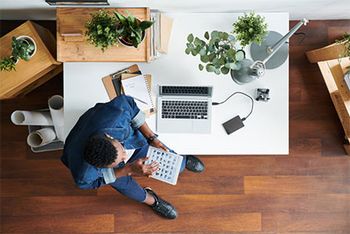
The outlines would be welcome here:
[[[146,192],[154,197],[155,203],[151,205],[152,209],[160,216],[167,219],[175,219],[177,212],[169,202],[161,199],[158,195],[149,187],[145,188]]]

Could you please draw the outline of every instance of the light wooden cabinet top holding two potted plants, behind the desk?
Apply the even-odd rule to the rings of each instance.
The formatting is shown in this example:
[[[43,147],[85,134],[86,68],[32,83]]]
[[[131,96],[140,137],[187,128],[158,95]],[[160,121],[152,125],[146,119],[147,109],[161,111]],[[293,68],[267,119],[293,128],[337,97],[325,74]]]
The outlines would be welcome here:
[[[57,8],[57,60],[61,62],[148,62],[150,30],[138,48],[112,46],[104,52],[85,37],[85,24],[91,13],[101,8]],[[150,20],[149,8],[104,8],[109,12],[128,13],[140,20]]]

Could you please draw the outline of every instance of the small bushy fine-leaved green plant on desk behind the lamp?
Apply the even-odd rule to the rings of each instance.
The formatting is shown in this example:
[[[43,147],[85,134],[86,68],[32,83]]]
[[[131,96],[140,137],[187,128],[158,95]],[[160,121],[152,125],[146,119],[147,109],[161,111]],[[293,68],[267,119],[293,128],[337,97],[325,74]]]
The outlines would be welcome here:
[[[261,45],[267,34],[265,18],[256,15],[254,12],[244,13],[244,16],[238,17],[238,20],[232,26],[232,33],[237,36],[241,46],[249,45],[252,42]]]

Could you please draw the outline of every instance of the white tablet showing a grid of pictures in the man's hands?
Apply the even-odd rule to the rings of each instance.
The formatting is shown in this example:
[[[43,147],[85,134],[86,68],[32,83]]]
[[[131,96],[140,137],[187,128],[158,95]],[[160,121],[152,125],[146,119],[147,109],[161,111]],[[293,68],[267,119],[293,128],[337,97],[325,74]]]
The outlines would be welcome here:
[[[151,178],[176,185],[183,160],[181,155],[150,146],[148,148],[147,157],[146,165],[154,161],[159,163],[159,169],[151,175]]]

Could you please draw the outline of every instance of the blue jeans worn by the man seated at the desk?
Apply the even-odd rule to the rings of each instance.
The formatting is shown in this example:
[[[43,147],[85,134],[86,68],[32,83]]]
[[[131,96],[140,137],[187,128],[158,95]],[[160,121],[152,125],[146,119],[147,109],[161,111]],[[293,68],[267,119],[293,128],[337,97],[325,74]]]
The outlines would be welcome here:
[[[134,162],[139,158],[146,157],[148,147],[149,145],[147,144],[142,148],[135,150],[128,163]],[[171,149],[169,149],[169,151],[175,153]],[[184,157],[184,160],[182,160],[180,172],[182,172],[185,169],[185,166],[186,157]],[[112,186],[112,188],[114,188],[121,194],[138,202],[143,202],[146,199],[146,191],[131,176],[119,177],[115,182],[113,182],[110,185]]]

